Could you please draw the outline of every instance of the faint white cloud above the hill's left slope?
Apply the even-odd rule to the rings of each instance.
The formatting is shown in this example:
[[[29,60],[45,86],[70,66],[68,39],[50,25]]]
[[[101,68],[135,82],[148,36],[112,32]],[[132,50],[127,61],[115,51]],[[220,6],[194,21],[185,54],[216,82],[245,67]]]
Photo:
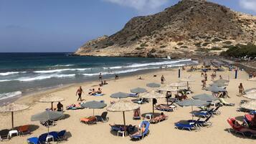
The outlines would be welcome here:
[[[167,4],[169,0],[103,0],[121,6],[128,6],[136,9],[141,14],[153,14],[159,11],[161,6]]]

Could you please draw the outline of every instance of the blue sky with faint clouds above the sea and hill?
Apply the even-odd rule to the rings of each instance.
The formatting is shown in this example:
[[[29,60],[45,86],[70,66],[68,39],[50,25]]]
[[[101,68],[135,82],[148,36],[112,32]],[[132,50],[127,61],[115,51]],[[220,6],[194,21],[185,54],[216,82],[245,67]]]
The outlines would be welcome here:
[[[75,52],[179,0],[0,0],[0,52]],[[209,0],[256,15],[256,0]]]

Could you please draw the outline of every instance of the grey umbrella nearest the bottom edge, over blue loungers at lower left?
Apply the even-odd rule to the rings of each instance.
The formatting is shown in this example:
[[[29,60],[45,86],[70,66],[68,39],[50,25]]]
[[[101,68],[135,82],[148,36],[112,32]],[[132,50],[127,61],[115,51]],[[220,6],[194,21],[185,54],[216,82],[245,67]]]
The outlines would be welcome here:
[[[47,122],[48,120],[54,121],[54,120],[59,120],[60,118],[64,117],[63,112],[57,112],[57,111],[52,111],[52,110],[45,110],[44,112],[40,112],[36,115],[32,115],[30,118],[31,121],[42,121],[42,122]],[[49,133],[49,126],[48,128],[48,133]]]

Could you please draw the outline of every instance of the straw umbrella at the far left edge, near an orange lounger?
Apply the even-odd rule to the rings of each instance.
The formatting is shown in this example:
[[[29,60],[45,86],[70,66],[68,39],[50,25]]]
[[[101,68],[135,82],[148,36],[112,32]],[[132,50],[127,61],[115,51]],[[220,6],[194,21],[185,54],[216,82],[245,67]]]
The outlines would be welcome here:
[[[11,128],[14,128],[14,112],[26,110],[28,108],[29,106],[27,105],[10,103],[9,105],[0,107],[0,112],[11,112]]]

